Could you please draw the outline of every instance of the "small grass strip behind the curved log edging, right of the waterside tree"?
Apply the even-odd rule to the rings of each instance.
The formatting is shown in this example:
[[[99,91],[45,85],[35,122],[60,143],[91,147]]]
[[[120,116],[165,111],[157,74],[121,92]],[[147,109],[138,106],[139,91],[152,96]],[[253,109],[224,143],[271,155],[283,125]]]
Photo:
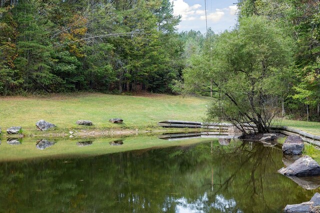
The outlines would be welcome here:
[[[320,122],[278,119],[274,124],[290,126],[293,128],[298,128],[303,131],[309,132],[311,134],[320,135]]]

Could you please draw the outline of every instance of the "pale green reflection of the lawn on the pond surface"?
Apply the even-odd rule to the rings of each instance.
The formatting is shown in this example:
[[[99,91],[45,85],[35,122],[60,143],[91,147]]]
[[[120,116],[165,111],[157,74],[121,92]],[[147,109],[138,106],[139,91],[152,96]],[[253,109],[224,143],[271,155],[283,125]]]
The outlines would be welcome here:
[[[92,144],[79,147],[76,142],[87,141],[88,139],[65,139],[51,138],[51,142],[55,142],[50,147],[43,150],[36,148],[36,138],[23,138],[21,144],[11,145],[2,140],[0,145],[0,161],[32,159],[38,157],[62,157],[62,156],[77,156],[85,157],[90,155],[101,155],[107,153],[115,153],[129,150],[147,149],[154,147],[168,147],[177,145],[190,145],[198,142],[209,142],[212,138],[193,138],[186,140],[163,140],[156,136],[135,135],[130,137],[104,137],[91,138]],[[123,141],[122,145],[110,145],[110,141]]]

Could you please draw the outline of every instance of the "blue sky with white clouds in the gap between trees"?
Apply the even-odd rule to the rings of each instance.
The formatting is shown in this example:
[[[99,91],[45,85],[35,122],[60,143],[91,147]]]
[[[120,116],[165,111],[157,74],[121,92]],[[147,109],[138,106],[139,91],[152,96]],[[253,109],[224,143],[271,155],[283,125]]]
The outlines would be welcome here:
[[[173,14],[181,15],[178,31],[190,29],[205,33],[204,0],[172,0]],[[231,29],[236,23],[237,0],[206,0],[208,28],[215,32]]]

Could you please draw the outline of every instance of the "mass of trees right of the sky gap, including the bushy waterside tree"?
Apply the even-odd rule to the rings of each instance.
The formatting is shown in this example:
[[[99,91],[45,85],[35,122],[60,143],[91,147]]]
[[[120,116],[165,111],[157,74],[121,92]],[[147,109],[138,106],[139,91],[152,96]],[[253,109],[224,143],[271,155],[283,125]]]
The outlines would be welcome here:
[[[320,120],[320,1],[237,5],[234,29],[209,34],[186,63],[184,88],[215,97],[210,119],[252,123],[259,132],[277,115]]]

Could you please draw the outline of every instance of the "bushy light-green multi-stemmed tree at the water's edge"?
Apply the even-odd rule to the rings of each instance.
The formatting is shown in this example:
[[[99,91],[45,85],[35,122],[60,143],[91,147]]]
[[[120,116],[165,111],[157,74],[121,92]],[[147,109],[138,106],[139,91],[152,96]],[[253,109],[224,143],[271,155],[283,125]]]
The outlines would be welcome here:
[[[258,132],[267,132],[275,115],[271,104],[275,85],[291,64],[290,46],[279,28],[255,15],[241,18],[236,29],[220,34],[208,48],[212,59],[207,61],[206,52],[202,59],[206,62],[199,62],[211,65],[209,73],[201,73],[212,80],[216,97],[209,119],[254,124]]]

